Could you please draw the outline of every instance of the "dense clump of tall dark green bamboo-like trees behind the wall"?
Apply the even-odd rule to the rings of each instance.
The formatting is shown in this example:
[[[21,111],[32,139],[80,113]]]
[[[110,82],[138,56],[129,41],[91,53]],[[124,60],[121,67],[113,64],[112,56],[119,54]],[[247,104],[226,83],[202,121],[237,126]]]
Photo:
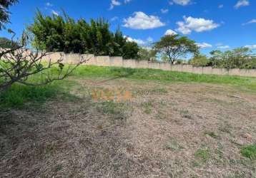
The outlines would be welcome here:
[[[34,23],[28,30],[34,35],[34,46],[46,51],[65,53],[93,53],[95,56],[123,56],[137,58],[139,46],[127,41],[122,32],[109,31],[104,19],[75,21],[64,16],[44,16],[37,11]]]

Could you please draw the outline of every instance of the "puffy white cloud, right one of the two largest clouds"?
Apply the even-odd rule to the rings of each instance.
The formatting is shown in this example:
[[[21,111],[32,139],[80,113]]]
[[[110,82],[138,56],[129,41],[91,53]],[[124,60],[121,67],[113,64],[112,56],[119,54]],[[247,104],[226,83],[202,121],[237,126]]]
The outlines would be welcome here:
[[[183,19],[184,21],[177,22],[178,28],[176,30],[180,33],[183,33],[184,35],[190,34],[192,31],[210,31],[220,26],[220,24],[215,23],[212,20],[207,20],[203,18],[193,18],[191,16],[184,16]]]

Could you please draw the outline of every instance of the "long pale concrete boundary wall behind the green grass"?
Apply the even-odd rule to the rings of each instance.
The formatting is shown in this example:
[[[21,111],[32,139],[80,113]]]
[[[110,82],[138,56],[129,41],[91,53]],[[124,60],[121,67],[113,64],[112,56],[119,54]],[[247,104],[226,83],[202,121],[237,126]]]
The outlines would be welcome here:
[[[81,57],[88,58],[89,60],[84,65],[92,66],[116,66],[124,68],[154,68],[161,70],[171,70],[187,73],[199,74],[215,74],[215,75],[238,75],[256,77],[256,70],[247,70],[234,68],[227,70],[225,68],[212,68],[212,67],[193,67],[191,65],[171,65],[169,63],[152,63],[149,61],[137,61],[133,59],[124,60],[122,57],[109,57],[109,56],[94,56],[92,54],[64,54],[64,53],[49,53],[44,57],[44,60],[57,61],[59,58],[64,59],[64,63],[77,63]]]

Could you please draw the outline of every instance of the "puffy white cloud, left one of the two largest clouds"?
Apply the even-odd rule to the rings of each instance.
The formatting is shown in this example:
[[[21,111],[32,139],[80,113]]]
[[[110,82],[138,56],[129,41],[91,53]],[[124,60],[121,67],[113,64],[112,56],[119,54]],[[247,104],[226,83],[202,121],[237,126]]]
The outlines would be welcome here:
[[[124,19],[124,27],[132,29],[152,29],[165,26],[158,16],[148,16],[142,11],[134,12],[134,16]]]

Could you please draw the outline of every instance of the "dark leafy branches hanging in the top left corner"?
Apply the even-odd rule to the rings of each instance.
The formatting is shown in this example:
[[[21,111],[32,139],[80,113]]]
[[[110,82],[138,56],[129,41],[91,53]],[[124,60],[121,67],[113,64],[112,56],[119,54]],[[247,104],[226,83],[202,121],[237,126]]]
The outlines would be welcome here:
[[[4,28],[4,23],[9,23],[9,7],[16,4],[18,0],[1,0],[0,1],[0,30]]]

